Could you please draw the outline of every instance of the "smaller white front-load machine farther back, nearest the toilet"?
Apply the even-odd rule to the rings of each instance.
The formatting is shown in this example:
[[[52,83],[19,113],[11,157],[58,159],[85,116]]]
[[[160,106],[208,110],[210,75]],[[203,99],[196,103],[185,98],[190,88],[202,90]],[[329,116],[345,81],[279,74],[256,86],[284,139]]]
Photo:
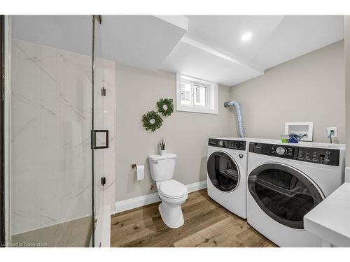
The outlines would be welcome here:
[[[258,141],[258,139],[209,138],[208,143],[208,195],[224,208],[244,219],[246,219],[249,141]]]

